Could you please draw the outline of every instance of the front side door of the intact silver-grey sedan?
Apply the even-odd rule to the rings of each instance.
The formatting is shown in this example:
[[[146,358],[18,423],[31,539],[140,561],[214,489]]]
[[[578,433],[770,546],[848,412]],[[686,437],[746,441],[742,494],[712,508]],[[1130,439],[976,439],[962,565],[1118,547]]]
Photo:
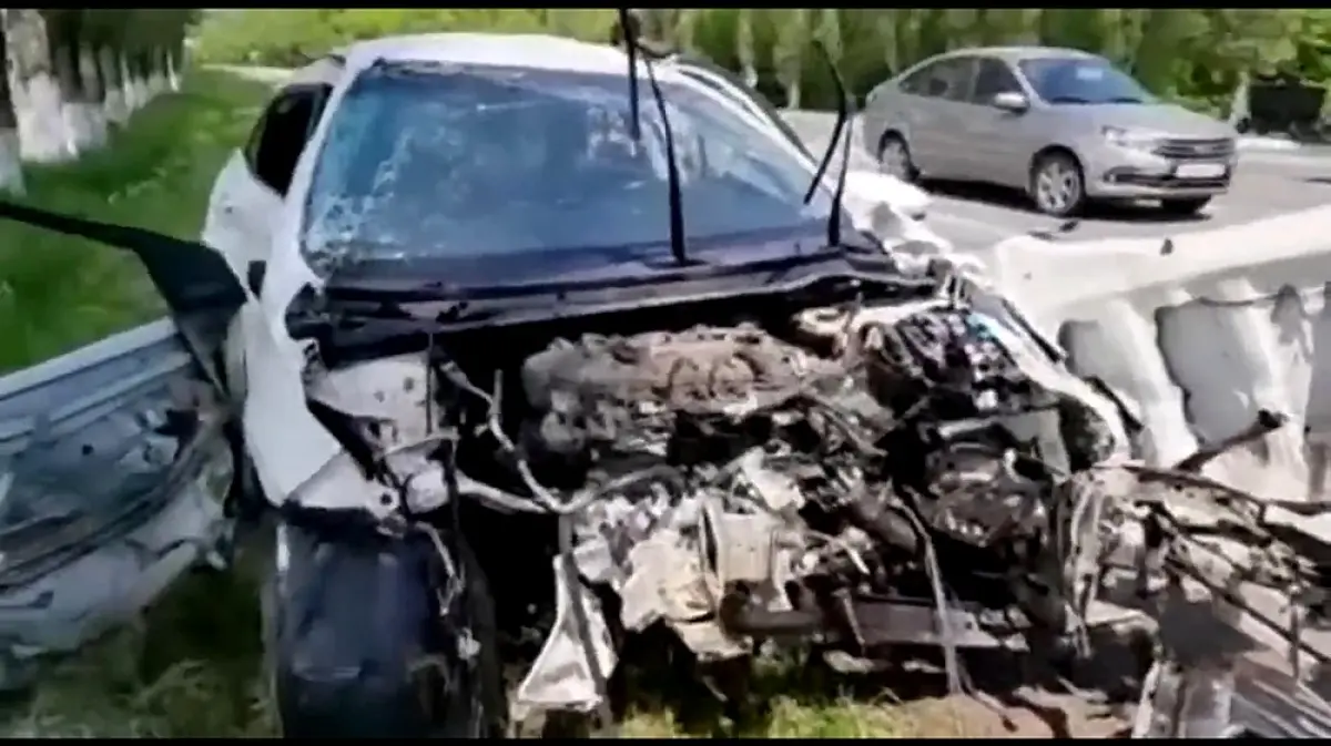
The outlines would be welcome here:
[[[1029,93],[1008,62],[997,57],[976,60],[976,82],[964,120],[972,152],[972,178],[1002,186],[1024,187],[1034,154],[1034,122],[1030,112],[1008,112],[993,105],[1000,93]]]

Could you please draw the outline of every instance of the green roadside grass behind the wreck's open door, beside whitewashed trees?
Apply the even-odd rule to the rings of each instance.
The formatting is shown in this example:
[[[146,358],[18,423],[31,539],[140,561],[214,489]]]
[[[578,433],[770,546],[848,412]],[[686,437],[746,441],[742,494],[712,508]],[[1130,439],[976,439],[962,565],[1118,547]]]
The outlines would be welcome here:
[[[266,86],[197,72],[137,112],[108,148],[29,168],[23,202],[197,237],[213,178],[244,142]],[[161,311],[133,255],[0,222],[0,372],[144,322]]]

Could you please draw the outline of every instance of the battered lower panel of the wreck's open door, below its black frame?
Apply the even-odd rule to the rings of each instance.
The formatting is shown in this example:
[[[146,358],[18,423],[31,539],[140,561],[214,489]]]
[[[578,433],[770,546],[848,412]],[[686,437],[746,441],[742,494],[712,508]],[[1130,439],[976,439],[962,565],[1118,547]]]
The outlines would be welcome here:
[[[0,376],[0,690],[229,553],[230,408],[178,328]]]

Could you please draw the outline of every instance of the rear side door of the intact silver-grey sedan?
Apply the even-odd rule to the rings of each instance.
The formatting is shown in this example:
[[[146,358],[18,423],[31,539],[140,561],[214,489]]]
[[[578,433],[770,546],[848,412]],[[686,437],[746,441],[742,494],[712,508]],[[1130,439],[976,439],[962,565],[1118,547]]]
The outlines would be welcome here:
[[[973,57],[944,57],[902,78],[886,128],[902,132],[921,173],[956,178],[968,161],[964,137]],[[893,122],[892,120],[900,121]]]

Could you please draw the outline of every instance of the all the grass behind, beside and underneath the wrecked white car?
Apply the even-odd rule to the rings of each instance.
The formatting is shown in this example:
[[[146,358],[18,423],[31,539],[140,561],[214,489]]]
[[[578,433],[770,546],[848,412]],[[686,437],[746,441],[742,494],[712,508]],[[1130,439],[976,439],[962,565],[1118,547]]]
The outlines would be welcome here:
[[[213,178],[252,126],[268,88],[198,72],[140,112],[110,148],[68,166],[32,169],[25,202],[196,237]],[[23,367],[161,312],[122,251],[0,223],[0,371]],[[0,737],[264,737],[276,733],[260,678],[253,574],[198,574],[136,624],[55,661],[31,695],[0,705]],[[772,703],[757,722],[685,719],[646,686],[630,737],[910,737],[976,734],[941,703],[901,707],[882,686],[764,670]]]

